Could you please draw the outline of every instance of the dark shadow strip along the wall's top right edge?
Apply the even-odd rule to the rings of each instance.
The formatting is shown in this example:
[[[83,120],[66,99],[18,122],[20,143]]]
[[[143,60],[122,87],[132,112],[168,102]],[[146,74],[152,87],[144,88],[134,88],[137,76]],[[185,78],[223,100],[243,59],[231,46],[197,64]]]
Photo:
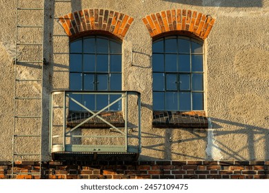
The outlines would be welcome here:
[[[172,3],[182,3],[192,6],[203,6],[203,7],[227,7],[227,8],[261,8],[263,6],[263,0],[161,0],[169,1]]]

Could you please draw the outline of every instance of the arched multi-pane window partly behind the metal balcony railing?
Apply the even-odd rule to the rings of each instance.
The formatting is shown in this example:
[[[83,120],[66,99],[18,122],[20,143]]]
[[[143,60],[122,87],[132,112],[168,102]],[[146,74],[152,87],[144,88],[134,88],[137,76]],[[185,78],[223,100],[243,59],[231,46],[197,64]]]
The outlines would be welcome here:
[[[108,37],[88,36],[70,42],[70,90],[121,90],[121,42]],[[72,94],[90,110],[101,110],[119,98],[109,94]],[[70,101],[71,111],[81,107]],[[121,110],[121,102],[108,110]]]

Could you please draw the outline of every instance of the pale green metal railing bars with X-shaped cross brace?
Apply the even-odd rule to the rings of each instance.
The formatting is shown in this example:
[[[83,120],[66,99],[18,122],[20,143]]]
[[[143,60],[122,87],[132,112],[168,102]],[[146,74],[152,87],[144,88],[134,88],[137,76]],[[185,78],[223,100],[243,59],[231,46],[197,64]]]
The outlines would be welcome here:
[[[61,105],[54,105],[54,96],[58,95],[58,94],[62,94],[60,95],[61,97],[63,97],[62,102],[63,104]],[[105,95],[112,95],[112,94],[117,94],[117,95],[121,95],[119,96],[118,99],[114,100],[112,103],[108,103],[108,105],[106,105],[106,107],[102,108],[101,110],[90,110],[89,108],[87,108],[85,105],[81,104],[79,101],[75,100],[72,98],[72,96],[70,96],[70,94],[93,94],[93,95],[98,95],[98,94],[105,94]],[[138,120],[137,120],[137,128],[138,128],[138,134],[137,136],[133,135],[133,134],[128,134],[128,111],[135,113],[134,110],[130,110],[129,109],[129,105],[128,105],[128,96],[130,95],[135,95],[137,96],[137,116],[138,116]],[[77,105],[79,105],[81,108],[83,108],[83,110],[86,110],[86,112],[90,112],[91,116],[89,116],[87,119],[81,121],[81,123],[78,123],[78,125],[74,126],[74,128],[68,128],[68,125],[66,123],[67,120],[67,110],[69,108],[69,105],[66,103],[67,99],[69,99],[70,101],[73,101],[74,103],[76,103]],[[124,128],[117,128],[114,125],[112,125],[112,123],[109,123],[108,121],[106,121],[105,119],[103,119],[100,114],[101,112],[105,112],[106,109],[108,109],[110,106],[114,105],[114,103],[117,103],[118,101],[121,100],[125,100],[125,105],[124,105],[124,111],[123,114],[125,116],[125,123],[124,123]],[[57,134],[54,135],[53,134],[53,125],[54,125],[54,108],[58,108],[59,106],[62,106],[62,114],[61,116],[63,116],[63,132],[62,134]],[[58,114],[59,116],[59,114]],[[90,119],[93,119],[94,117],[96,117],[97,119],[100,119],[103,123],[106,123],[107,125],[109,125],[108,130],[116,130],[117,132],[119,132],[120,135],[113,135],[113,136],[109,136],[109,135],[104,135],[104,136],[99,136],[99,135],[92,135],[92,136],[88,136],[88,135],[78,135],[78,134],[71,134],[72,131],[76,130],[77,128],[83,128],[83,124],[90,121]],[[68,130],[67,130],[68,128]],[[52,139],[55,138],[59,138],[62,137],[63,141],[62,143],[57,143],[57,144],[53,144],[52,143]],[[139,92],[136,91],[92,91],[92,90],[54,90],[51,92],[50,94],[50,152],[53,152],[52,148],[53,145],[62,145],[62,151],[66,152],[66,151],[70,151],[70,150],[66,150],[66,147],[68,145],[66,145],[66,138],[125,138],[125,144],[122,146],[123,149],[119,150],[122,152],[128,152],[130,145],[128,144],[128,139],[132,138],[132,139],[137,139],[137,152],[136,153],[140,153],[141,152],[141,96]],[[71,144],[72,145],[72,144]],[[92,144],[94,146],[94,144]],[[104,146],[108,146],[104,145]],[[78,145],[77,145],[78,146]],[[87,145],[81,144],[81,146],[79,146],[79,148],[83,149],[83,152],[85,152],[85,148],[83,147],[87,147]],[[92,147],[92,146],[91,146]],[[91,152],[92,150],[88,150],[89,152]],[[112,148],[110,148],[109,152],[113,151]]]

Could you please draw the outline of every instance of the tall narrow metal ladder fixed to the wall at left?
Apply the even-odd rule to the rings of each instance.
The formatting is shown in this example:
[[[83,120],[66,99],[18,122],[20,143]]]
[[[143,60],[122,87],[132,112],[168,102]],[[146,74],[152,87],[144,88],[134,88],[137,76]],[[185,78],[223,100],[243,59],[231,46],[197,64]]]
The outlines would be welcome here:
[[[44,1],[16,0],[12,178],[14,174],[41,178]],[[39,170],[17,172],[15,161],[38,161]]]

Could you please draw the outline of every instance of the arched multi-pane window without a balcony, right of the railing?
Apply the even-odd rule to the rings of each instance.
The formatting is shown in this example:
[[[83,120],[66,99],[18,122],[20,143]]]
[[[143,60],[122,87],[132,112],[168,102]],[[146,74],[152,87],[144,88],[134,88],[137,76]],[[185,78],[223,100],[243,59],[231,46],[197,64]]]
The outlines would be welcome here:
[[[203,42],[169,36],[152,44],[153,110],[203,110]]]

